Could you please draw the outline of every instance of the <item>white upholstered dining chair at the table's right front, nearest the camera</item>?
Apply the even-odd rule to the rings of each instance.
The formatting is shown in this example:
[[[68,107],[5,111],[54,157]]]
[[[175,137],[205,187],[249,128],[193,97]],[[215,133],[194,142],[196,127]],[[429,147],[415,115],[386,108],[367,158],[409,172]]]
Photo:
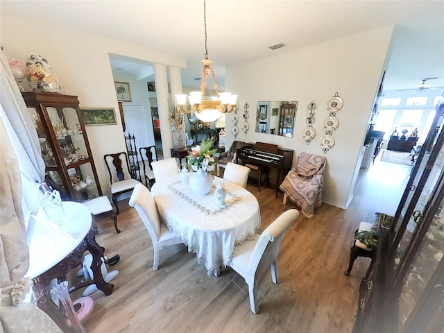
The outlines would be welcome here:
[[[298,219],[297,210],[287,210],[271,225],[256,235],[255,240],[245,241],[244,244],[234,246],[232,262],[229,264],[234,271],[237,271],[248,284],[250,296],[250,307],[253,314],[259,311],[259,301],[257,300],[257,287],[264,273],[271,267],[271,279],[278,284],[278,262],[279,246],[284,237],[285,231]]]

